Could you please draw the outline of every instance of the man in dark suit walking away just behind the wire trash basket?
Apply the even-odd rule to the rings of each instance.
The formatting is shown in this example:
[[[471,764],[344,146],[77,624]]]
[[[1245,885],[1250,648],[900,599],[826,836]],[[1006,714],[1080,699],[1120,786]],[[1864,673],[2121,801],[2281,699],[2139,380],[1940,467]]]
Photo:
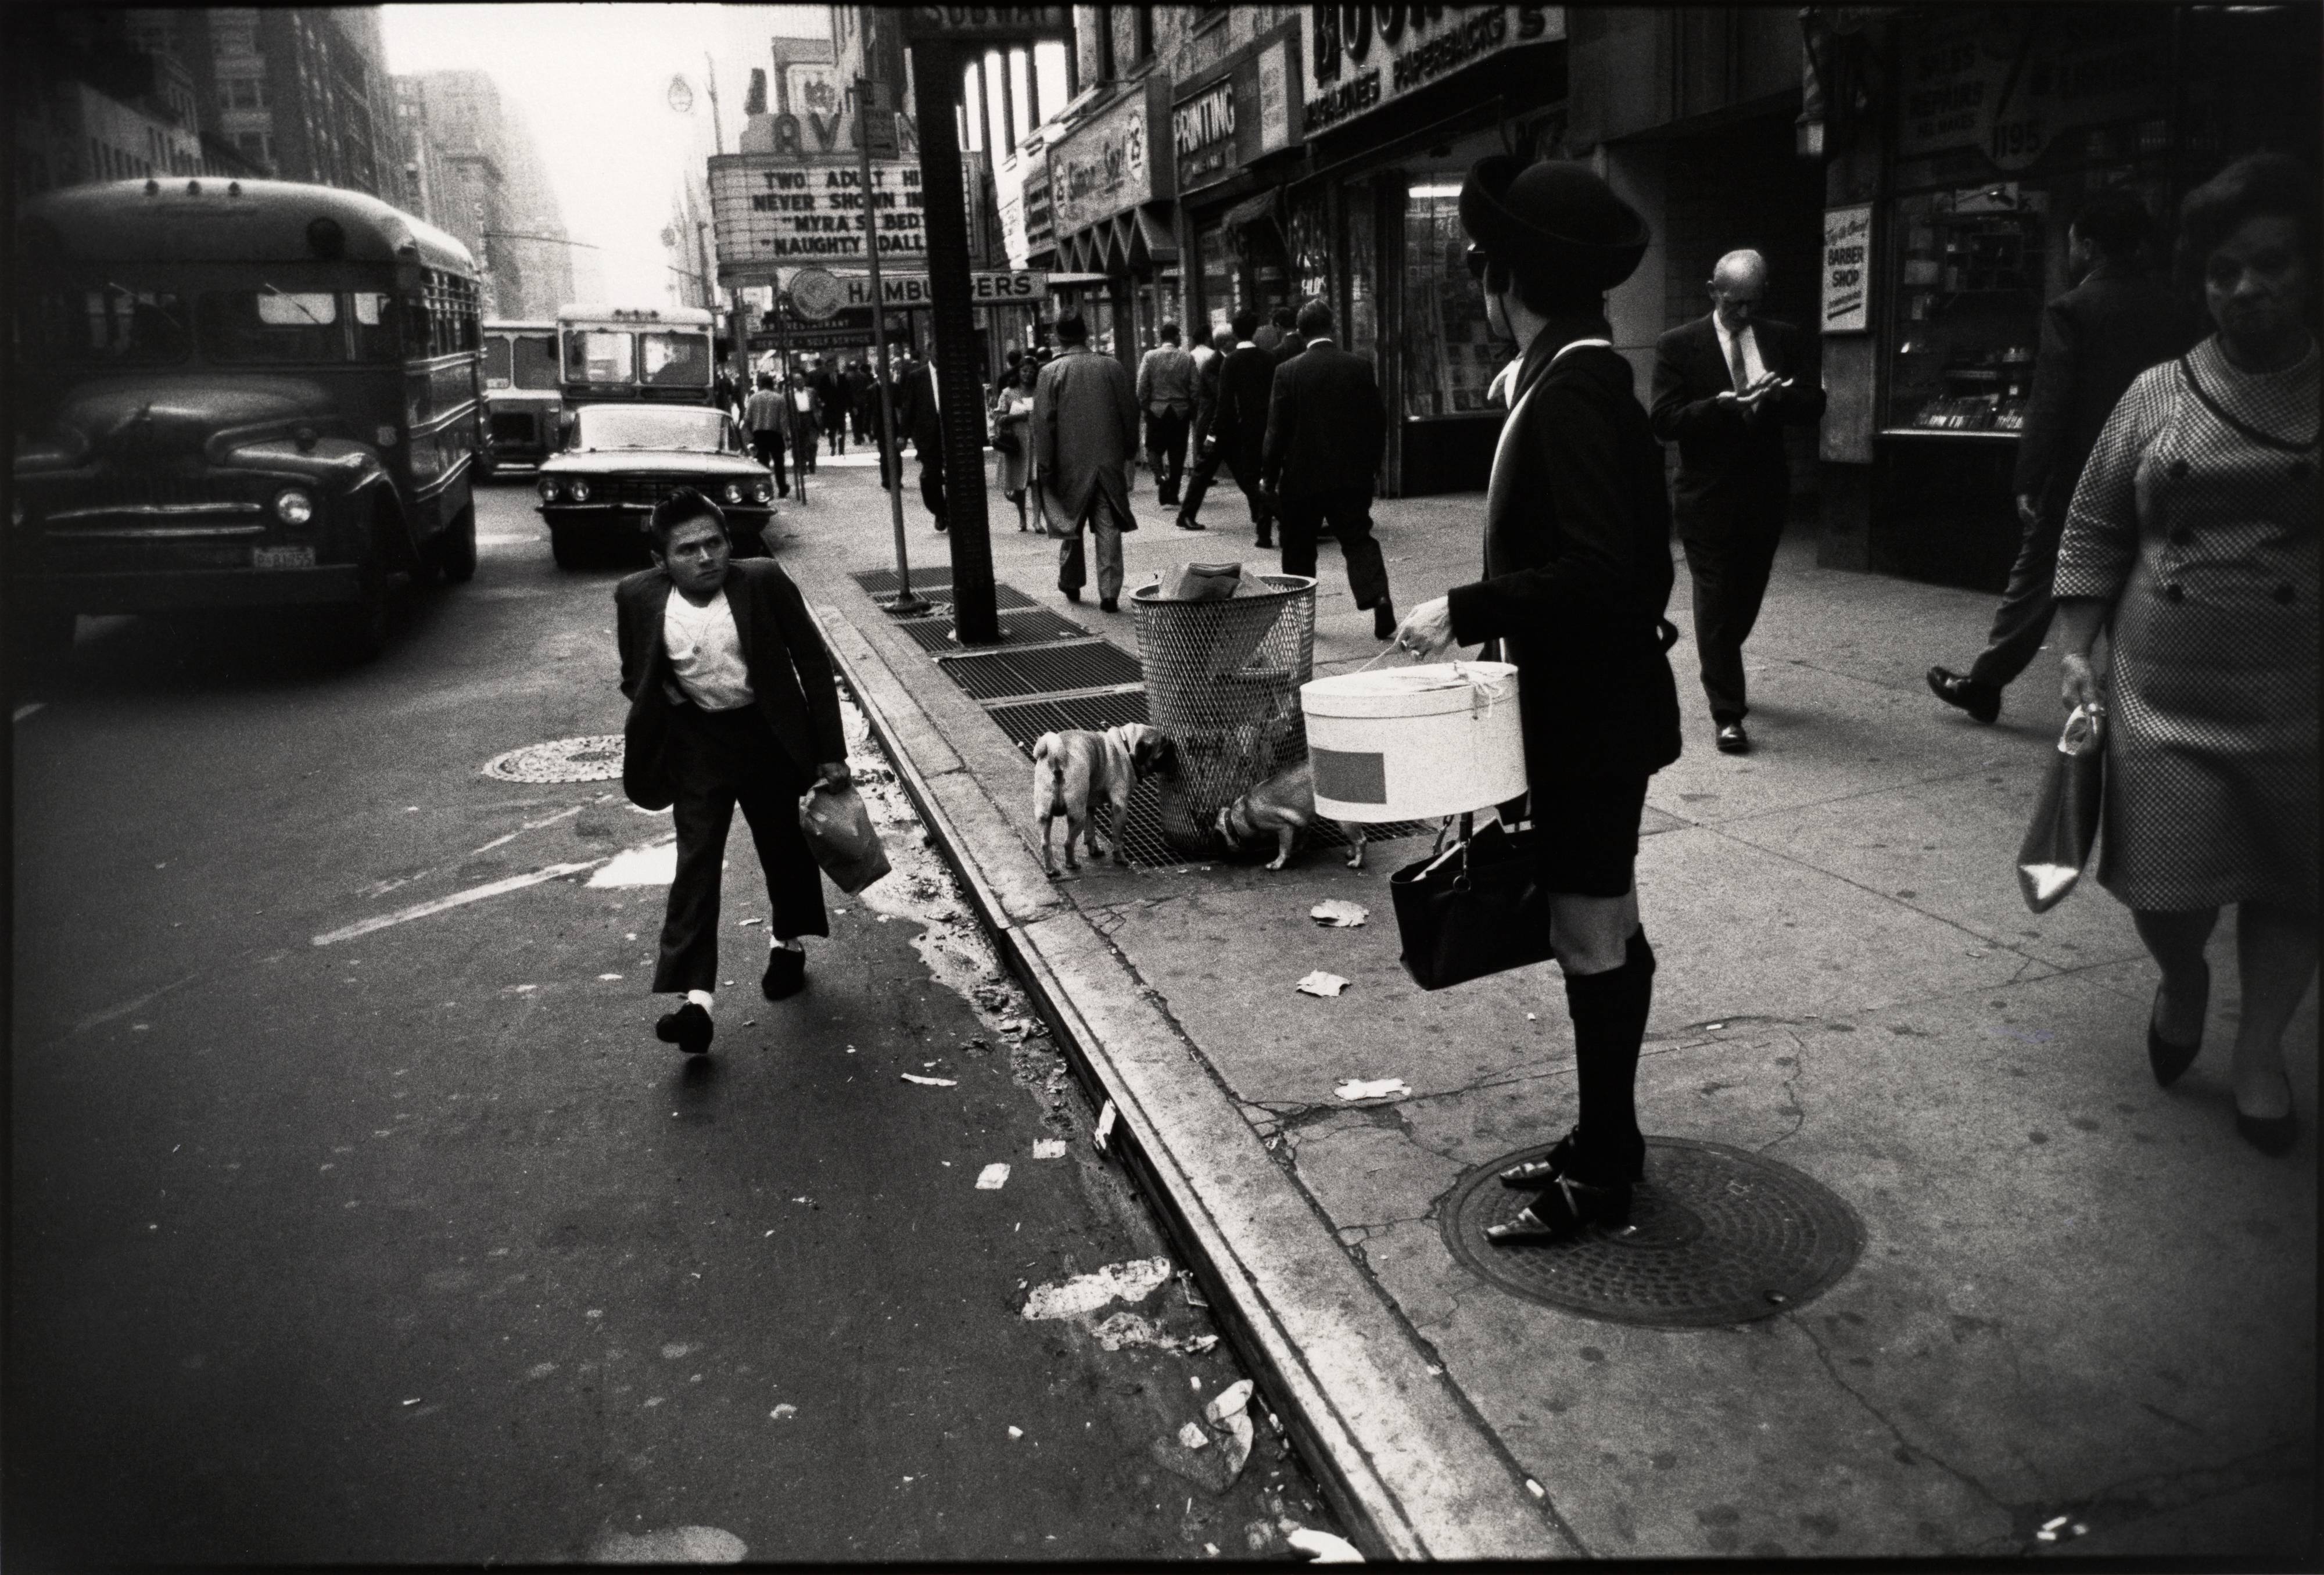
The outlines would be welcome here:
[[[1348,590],[1357,609],[1371,609],[1371,634],[1387,639],[1397,609],[1371,539],[1371,479],[1387,448],[1380,383],[1369,360],[1332,344],[1332,307],[1311,300],[1297,328],[1304,348],[1276,367],[1260,460],[1260,483],[1283,516],[1283,571],[1315,574],[1315,532],[1329,520]]]

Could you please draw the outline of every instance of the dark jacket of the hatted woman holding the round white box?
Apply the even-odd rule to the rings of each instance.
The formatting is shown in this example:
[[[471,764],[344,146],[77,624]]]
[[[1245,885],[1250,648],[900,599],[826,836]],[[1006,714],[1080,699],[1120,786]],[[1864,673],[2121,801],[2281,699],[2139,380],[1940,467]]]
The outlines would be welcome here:
[[[1452,639],[1518,664],[1532,783],[1645,776],[1678,760],[1664,620],[1671,504],[1629,362],[1543,330],[1485,495],[1485,578],[1450,592]]]

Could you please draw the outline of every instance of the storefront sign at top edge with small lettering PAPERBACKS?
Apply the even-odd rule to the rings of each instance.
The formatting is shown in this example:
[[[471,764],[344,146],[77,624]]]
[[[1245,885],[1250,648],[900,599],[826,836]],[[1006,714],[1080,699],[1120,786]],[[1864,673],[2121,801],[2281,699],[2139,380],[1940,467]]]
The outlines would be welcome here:
[[[1385,109],[1506,49],[1564,35],[1559,5],[1311,5],[1306,135]]]

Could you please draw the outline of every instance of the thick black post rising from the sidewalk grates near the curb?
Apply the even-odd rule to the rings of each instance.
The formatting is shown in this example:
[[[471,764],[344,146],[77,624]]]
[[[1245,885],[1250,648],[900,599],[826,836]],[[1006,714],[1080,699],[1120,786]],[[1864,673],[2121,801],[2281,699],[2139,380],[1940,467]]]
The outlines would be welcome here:
[[[920,211],[927,218],[927,293],[937,330],[944,409],[944,499],[953,539],[953,639],[1002,639],[985,516],[985,402],[976,381],[976,318],[969,300],[969,214],[960,174],[960,51],[944,37],[911,39],[913,112],[920,132]],[[876,256],[876,253],[874,253]]]

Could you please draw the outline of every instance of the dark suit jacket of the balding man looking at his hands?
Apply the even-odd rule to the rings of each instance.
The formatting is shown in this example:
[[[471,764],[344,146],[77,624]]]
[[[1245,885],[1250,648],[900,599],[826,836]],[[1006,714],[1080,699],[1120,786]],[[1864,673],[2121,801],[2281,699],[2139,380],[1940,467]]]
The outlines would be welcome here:
[[[1759,362],[1776,376],[1801,376],[1799,330],[1776,318],[1752,318]],[[1757,411],[1720,404],[1734,374],[1710,314],[1680,323],[1655,341],[1655,437],[1678,444],[1678,534],[1717,532],[1734,523],[1736,504],[1783,509],[1789,469],[1783,427],[1824,413],[1822,383],[1794,383],[1759,402]]]

